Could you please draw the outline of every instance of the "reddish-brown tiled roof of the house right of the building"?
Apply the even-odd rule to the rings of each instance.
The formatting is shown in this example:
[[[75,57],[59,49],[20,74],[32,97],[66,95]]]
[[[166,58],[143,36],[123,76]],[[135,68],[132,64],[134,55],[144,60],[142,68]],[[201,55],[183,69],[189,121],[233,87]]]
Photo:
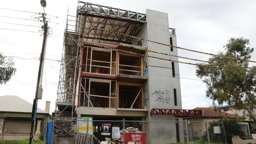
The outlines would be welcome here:
[[[230,118],[236,118],[234,114],[225,113],[222,111],[215,111],[213,108],[209,107],[196,107],[194,110],[202,110],[202,116],[209,116],[209,117],[230,117]],[[243,118],[242,116],[238,116],[239,118]]]

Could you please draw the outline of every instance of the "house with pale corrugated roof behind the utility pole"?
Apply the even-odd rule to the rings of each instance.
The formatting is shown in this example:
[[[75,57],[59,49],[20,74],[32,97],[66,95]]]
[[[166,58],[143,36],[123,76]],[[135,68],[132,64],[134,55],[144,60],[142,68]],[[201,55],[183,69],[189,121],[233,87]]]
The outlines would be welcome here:
[[[50,120],[49,109],[50,102],[46,102],[45,111],[37,108],[36,135],[40,135],[40,131],[45,129],[46,122]],[[4,136],[4,140],[28,139],[31,127],[31,114],[32,103],[27,102],[19,96],[0,96],[0,135],[6,135]],[[35,139],[37,138],[35,137]]]

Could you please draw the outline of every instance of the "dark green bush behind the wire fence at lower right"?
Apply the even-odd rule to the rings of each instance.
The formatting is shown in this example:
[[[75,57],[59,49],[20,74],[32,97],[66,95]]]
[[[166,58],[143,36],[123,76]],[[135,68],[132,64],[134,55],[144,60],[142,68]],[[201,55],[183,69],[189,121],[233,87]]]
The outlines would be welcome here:
[[[223,122],[225,134],[226,134],[226,140],[228,143],[232,144],[232,137],[235,135],[238,135],[240,138],[242,138],[243,135],[245,135],[244,131],[241,129],[239,124],[237,123],[237,120],[229,120],[227,118],[224,118],[223,120],[219,120],[217,122]],[[211,123],[208,127],[209,135],[210,135],[210,142],[225,142],[225,136],[223,129],[221,129],[221,134],[215,134],[213,131],[213,127],[218,126],[217,123]],[[219,126],[221,126],[219,124]],[[204,132],[204,135],[202,135],[203,141],[208,141],[207,137],[207,131]]]

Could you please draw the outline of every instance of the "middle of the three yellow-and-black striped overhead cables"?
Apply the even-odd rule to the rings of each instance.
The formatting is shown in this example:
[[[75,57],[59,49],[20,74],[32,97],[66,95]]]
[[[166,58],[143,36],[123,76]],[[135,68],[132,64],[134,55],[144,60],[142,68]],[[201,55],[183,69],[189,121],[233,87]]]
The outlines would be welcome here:
[[[156,54],[162,54],[162,55],[170,55],[172,57],[179,57],[179,58],[182,58],[182,59],[190,59],[190,60],[193,60],[193,61],[201,61],[201,62],[205,62],[205,63],[212,63],[212,64],[215,64],[215,65],[226,65],[226,66],[228,65],[228,64],[224,64],[224,63],[215,63],[215,62],[212,62],[212,61],[203,61],[203,60],[199,60],[199,59],[181,57],[181,56],[178,56],[178,55],[171,55],[171,54],[166,54],[166,53],[162,53],[162,52],[146,50],[146,49],[143,49],[143,48],[136,48],[136,47],[127,46],[127,45],[123,45],[123,44],[118,44],[118,43],[115,43],[115,42],[104,41],[104,40],[100,40],[100,39],[96,39],[96,40],[102,41],[102,42],[108,42],[110,44],[115,44],[115,45],[118,45],[118,46],[124,46],[124,47],[127,47],[127,48],[133,48],[133,49],[136,49],[136,50],[143,50],[143,51],[152,52],[152,53],[156,53]]]

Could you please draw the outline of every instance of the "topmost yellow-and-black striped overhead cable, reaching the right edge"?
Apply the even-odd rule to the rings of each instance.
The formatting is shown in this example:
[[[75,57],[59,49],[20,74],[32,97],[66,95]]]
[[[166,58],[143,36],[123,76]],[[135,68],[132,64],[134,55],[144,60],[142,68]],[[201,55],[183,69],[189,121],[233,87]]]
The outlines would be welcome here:
[[[151,40],[148,40],[148,39],[144,39],[144,38],[140,38],[140,37],[135,37],[135,36],[132,36],[132,35],[126,35],[124,33],[119,33],[119,32],[116,32],[116,31],[106,30],[104,28],[100,28],[100,30],[104,30],[104,31],[108,31],[110,33],[115,33],[115,34],[123,35],[123,36],[126,36],[126,37],[132,37],[134,39],[141,39],[141,40],[144,40],[144,41],[153,42],[153,43],[161,44],[161,45],[164,45],[164,46],[170,46],[170,47],[179,48],[179,49],[182,49],[182,50],[188,50],[188,51],[191,51],[191,52],[197,52],[197,53],[200,53],[200,54],[207,54],[207,55],[213,55],[213,56],[217,56],[217,57],[223,57],[223,58],[226,58],[226,59],[234,59],[234,60],[241,60],[241,61],[247,61],[247,62],[256,63],[256,61],[250,61],[250,60],[247,60],[247,59],[239,59],[239,58],[236,58],[236,57],[227,57],[227,56],[224,56],[224,55],[216,55],[216,54],[210,54],[210,53],[200,52],[200,51],[196,51],[196,50],[190,50],[190,49],[187,49],[187,48],[182,48],[182,47],[173,46],[173,45],[170,45],[170,44],[164,44],[164,43],[161,43],[161,42],[151,41]]]

